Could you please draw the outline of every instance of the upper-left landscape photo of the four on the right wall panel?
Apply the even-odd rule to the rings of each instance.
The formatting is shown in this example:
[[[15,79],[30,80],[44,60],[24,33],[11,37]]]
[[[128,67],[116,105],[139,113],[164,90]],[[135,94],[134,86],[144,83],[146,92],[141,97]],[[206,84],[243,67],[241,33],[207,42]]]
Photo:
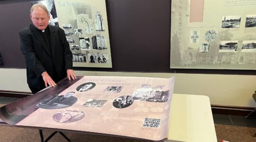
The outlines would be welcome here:
[[[222,28],[239,28],[241,22],[241,16],[223,16],[221,27]]]

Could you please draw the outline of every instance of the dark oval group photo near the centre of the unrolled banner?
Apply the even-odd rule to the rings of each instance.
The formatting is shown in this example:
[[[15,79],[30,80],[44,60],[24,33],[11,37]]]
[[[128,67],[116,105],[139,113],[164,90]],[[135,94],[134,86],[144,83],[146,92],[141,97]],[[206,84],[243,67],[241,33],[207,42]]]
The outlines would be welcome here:
[[[116,108],[129,107],[133,103],[133,98],[131,96],[121,96],[113,101],[113,106]]]

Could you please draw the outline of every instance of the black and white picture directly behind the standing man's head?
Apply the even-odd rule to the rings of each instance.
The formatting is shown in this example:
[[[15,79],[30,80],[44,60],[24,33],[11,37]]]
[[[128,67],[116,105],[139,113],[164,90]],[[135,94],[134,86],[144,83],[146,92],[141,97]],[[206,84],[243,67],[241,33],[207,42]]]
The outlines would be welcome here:
[[[49,14],[50,14],[49,24],[59,27],[59,22],[58,22],[58,17],[57,17],[57,12],[56,12],[56,8],[55,8],[54,0],[31,1],[31,4],[32,5],[34,5],[34,4],[43,4],[43,5],[45,5],[47,10],[49,11]]]

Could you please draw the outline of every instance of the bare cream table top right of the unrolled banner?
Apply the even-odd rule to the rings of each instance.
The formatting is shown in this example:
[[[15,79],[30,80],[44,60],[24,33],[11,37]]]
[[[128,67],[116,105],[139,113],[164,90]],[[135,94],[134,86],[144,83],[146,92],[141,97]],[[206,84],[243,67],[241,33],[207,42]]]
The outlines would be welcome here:
[[[173,94],[167,142],[217,142],[210,99]]]

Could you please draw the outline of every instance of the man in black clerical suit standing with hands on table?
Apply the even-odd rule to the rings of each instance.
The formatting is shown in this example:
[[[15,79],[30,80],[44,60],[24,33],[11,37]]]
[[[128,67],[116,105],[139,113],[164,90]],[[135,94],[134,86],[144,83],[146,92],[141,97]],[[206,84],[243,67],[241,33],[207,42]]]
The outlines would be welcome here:
[[[32,24],[19,32],[20,49],[27,65],[27,84],[32,93],[67,77],[76,79],[72,52],[64,30],[48,25],[50,15],[42,4],[30,9]]]

